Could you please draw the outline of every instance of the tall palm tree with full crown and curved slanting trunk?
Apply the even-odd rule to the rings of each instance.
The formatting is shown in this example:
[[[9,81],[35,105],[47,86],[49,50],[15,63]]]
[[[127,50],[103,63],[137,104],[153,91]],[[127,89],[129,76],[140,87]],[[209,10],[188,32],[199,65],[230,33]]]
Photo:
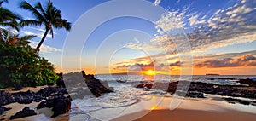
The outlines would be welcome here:
[[[42,37],[40,43],[38,43],[36,48],[37,50],[39,50],[42,43],[44,43],[44,39],[48,32],[51,33],[52,38],[54,37],[53,27],[58,29],[65,28],[67,31],[71,29],[71,23],[62,19],[61,10],[56,9],[50,0],[45,9],[42,7],[41,3],[37,3],[33,7],[26,1],[22,1],[20,3],[20,8],[32,12],[32,15],[35,17],[35,20],[21,20],[20,26],[45,26],[44,36]]]

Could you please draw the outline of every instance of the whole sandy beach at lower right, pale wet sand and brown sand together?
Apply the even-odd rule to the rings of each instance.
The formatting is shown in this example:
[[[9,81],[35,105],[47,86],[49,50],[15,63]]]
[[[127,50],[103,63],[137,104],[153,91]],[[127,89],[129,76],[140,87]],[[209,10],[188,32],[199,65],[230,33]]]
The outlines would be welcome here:
[[[176,109],[170,110],[170,101],[172,101],[172,97],[153,96],[150,101],[139,102],[130,107],[119,107],[90,112],[90,116],[99,120],[112,121],[254,121],[256,119],[256,107],[254,106],[230,104],[225,101],[212,101],[208,99],[199,100],[185,98]],[[158,102],[160,103],[156,106],[156,103]],[[85,117],[85,115],[77,115],[69,119],[81,120]]]

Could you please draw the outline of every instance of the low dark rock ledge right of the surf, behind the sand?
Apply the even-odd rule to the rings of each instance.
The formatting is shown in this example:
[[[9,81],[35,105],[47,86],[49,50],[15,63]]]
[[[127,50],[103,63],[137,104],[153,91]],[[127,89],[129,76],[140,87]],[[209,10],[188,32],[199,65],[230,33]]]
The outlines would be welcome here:
[[[187,97],[191,98],[206,98],[205,94],[210,95],[222,95],[222,96],[231,96],[229,98],[222,98],[225,101],[230,103],[241,103],[244,105],[253,105],[256,106],[256,81],[253,79],[240,79],[238,83],[241,85],[221,85],[221,84],[207,84],[201,82],[191,82],[189,89],[185,89],[183,85],[180,85],[179,88],[188,90],[188,91],[177,91],[177,85],[189,84],[190,82],[181,81],[181,82],[170,82],[170,83],[147,83],[143,82],[138,84],[137,88],[146,88],[146,89],[162,89],[171,95],[183,95],[186,94]],[[234,98],[233,98],[234,97]],[[247,98],[253,101],[237,99],[237,97]]]

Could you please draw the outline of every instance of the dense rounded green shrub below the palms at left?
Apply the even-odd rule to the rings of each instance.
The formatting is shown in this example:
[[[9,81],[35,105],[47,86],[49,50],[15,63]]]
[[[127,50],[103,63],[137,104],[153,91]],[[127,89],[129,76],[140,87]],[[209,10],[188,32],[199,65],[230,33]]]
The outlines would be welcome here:
[[[32,47],[0,43],[0,88],[55,84],[57,78],[53,65]]]

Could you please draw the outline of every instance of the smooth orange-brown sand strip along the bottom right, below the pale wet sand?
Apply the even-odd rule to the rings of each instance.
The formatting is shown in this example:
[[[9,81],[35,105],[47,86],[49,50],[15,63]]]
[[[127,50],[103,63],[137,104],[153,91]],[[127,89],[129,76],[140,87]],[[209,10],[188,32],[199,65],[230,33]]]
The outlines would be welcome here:
[[[147,113],[147,111],[131,113],[120,118],[115,118],[112,121],[127,121],[133,120],[134,117],[139,117]],[[175,109],[173,111],[169,109],[153,110],[143,116],[143,118],[137,118],[137,121],[254,121],[256,114],[247,112],[238,112],[235,110],[225,110],[224,112],[215,111],[198,111],[188,109]]]

